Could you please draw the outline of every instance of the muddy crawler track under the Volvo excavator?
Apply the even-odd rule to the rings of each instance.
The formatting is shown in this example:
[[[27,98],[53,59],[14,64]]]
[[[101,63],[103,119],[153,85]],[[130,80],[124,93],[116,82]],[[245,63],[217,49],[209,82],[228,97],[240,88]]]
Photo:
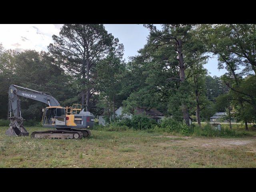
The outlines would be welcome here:
[[[34,131],[31,133],[32,138],[51,138],[51,139],[81,139],[84,134],[81,131],[73,130],[49,130]]]

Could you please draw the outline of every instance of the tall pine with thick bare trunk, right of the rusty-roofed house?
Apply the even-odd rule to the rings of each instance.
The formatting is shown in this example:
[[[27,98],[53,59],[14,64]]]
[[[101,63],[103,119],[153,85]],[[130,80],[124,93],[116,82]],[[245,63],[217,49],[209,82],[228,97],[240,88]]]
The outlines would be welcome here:
[[[157,50],[160,46],[168,46],[173,50],[173,60],[177,61],[179,77],[174,76],[169,79],[178,80],[181,84],[186,84],[186,68],[207,57],[203,56],[205,50],[195,33],[196,26],[190,24],[164,24],[162,31],[157,30],[153,25],[147,25],[147,27],[150,29],[149,42],[154,47],[154,50]],[[198,57],[191,57],[194,54],[198,54]],[[189,109],[186,100],[181,101],[181,109],[183,118],[186,124],[189,125]]]

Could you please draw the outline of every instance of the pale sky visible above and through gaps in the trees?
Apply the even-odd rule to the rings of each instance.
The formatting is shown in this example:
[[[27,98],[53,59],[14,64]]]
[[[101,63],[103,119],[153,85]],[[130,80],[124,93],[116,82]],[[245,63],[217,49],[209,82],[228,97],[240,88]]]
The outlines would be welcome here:
[[[161,29],[160,24],[155,24]],[[59,35],[62,24],[0,24],[0,43],[7,49],[19,52],[26,49],[48,51],[53,42],[52,35]],[[149,30],[142,24],[104,24],[108,33],[112,33],[124,45],[124,59],[138,55],[138,50],[147,42]],[[204,65],[211,76],[222,76],[226,71],[218,70],[217,58],[211,58]]]

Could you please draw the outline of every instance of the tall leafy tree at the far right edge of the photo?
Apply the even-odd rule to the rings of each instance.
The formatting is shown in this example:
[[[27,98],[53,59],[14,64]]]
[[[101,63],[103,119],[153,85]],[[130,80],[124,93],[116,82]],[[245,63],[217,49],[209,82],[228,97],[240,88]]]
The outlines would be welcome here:
[[[235,91],[240,106],[240,117],[243,116],[246,130],[248,129],[247,116],[241,115],[245,113],[244,96],[254,106],[254,96],[239,91],[239,87],[243,82],[243,76],[254,71],[256,72],[255,60],[255,42],[256,30],[255,25],[248,24],[221,24],[221,25],[205,25],[202,26],[204,31],[205,42],[208,42],[209,51],[216,54],[219,60],[219,68],[226,68],[228,71],[222,78],[226,86],[230,88],[230,92]],[[240,68],[244,69],[239,72]],[[240,94],[238,94],[240,92]],[[241,95],[242,94],[242,95]],[[248,100],[247,100],[248,101]]]

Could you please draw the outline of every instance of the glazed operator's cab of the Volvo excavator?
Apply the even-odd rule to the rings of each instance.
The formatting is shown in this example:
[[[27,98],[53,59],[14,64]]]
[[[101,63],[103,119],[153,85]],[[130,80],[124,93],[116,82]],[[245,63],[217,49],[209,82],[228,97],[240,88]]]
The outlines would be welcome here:
[[[42,125],[66,125],[66,112],[64,107],[51,106],[44,109]]]

